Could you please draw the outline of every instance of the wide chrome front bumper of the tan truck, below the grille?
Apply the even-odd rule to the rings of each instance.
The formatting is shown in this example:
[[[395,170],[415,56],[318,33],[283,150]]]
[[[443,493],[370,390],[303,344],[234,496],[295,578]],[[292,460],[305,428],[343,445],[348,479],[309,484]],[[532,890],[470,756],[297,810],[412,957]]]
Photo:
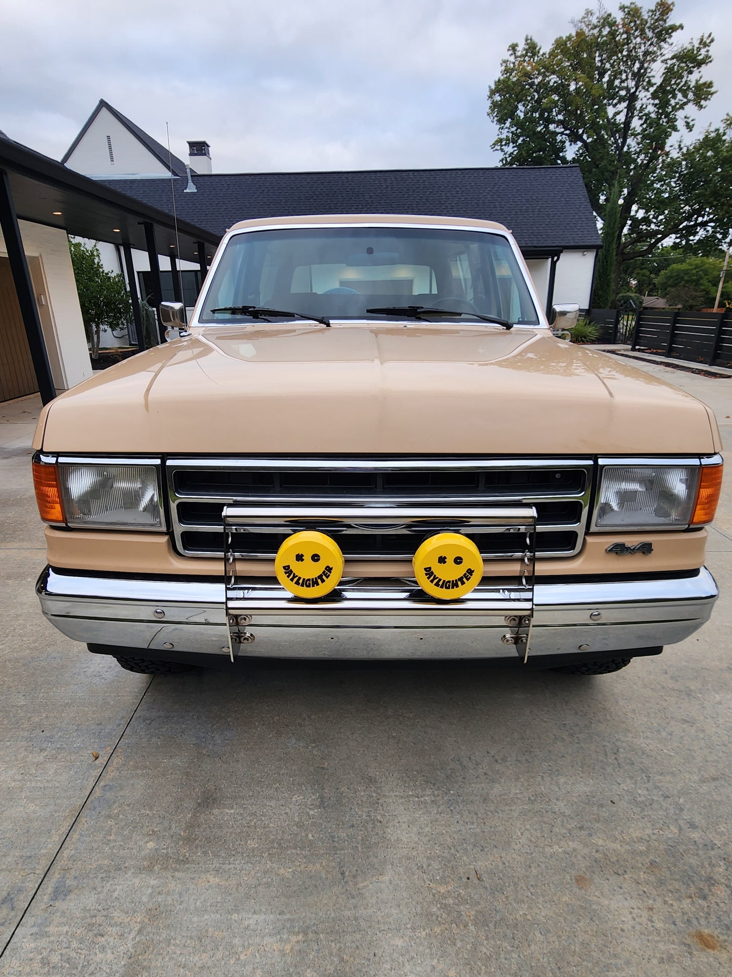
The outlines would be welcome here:
[[[148,658],[523,658],[525,647],[510,639],[527,614],[530,658],[601,656],[683,641],[709,619],[718,595],[706,568],[627,582],[539,580],[533,601],[509,582],[484,580],[468,597],[441,602],[410,580],[372,579],[346,580],[333,595],[305,602],[276,581],[250,577],[238,581],[227,609],[223,581],[52,568],[36,590],[44,615],[69,638]]]

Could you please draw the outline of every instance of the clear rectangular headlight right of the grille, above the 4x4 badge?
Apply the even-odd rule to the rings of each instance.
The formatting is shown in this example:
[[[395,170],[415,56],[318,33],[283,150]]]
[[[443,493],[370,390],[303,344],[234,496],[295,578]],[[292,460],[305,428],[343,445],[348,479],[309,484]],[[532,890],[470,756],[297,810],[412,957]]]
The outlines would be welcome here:
[[[596,530],[656,530],[691,523],[700,465],[607,464],[600,472]]]

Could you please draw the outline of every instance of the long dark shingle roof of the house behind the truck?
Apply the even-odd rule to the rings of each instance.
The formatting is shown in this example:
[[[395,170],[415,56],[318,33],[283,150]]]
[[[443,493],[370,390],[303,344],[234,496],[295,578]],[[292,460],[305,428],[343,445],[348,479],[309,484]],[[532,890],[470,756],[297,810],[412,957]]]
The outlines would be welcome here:
[[[237,221],[303,214],[424,214],[498,221],[524,250],[600,244],[578,166],[213,173],[176,180],[178,216],[215,234]],[[170,183],[104,181],[172,211]]]

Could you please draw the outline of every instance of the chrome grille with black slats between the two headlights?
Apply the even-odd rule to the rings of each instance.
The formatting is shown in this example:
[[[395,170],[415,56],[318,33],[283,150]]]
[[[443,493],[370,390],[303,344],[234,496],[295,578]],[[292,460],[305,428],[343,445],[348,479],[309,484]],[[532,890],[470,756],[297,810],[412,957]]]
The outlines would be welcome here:
[[[172,458],[167,478],[176,547],[185,556],[221,556],[224,505],[375,506],[393,510],[393,525],[339,523],[327,519],[269,520],[238,532],[236,555],[271,560],[283,539],[300,529],[323,529],[338,537],[346,559],[411,560],[422,540],[436,531],[461,531],[484,559],[507,559],[520,546],[510,533],[470,526],[454,510],[469,504],[507,502],[536,508],[537,557],[571,556],[584,538],[592,461],[581,459],[473,458]],[[400,507],[438,510],[424,524],[399,521]],[[444,512],[444,516],[442,513]]]

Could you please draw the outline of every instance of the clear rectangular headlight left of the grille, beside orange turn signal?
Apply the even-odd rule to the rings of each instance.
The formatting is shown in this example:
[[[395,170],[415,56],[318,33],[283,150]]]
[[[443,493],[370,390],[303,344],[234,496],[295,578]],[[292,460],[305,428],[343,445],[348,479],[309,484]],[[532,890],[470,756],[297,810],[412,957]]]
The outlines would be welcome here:
[[[162,530],[159,466],[59,462],[68,526],[112,530]]]

